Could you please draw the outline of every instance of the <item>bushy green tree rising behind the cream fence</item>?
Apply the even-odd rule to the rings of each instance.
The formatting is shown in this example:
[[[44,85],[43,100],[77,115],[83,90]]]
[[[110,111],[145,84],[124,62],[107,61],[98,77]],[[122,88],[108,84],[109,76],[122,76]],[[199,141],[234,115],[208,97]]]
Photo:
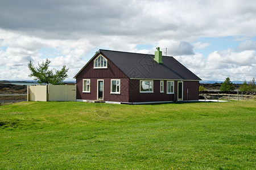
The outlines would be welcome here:
[[[50,62],[51,61],[46,58],[46,62],[43,61],[41,64],[38,63],[38,67],[35,67],[30,60],[30,62],[28,63],[28,69],[30,69],[31,73],[28,76],[34,76],[34,80],[37,80],[39,84],[62,84],[63,80],[68,77],[67,73],[69,69],[66,69],[66,66],[63,65],[60,70],[49,70]],[[55,74],[53,73],[53,71],[55,72]]]

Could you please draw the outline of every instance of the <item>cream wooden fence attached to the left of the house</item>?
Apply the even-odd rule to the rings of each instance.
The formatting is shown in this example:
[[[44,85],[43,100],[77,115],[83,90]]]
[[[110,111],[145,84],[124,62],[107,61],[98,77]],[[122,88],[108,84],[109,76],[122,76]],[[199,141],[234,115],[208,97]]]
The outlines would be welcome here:
[[[27,101],[76,101],[76,85],[27,86]]]

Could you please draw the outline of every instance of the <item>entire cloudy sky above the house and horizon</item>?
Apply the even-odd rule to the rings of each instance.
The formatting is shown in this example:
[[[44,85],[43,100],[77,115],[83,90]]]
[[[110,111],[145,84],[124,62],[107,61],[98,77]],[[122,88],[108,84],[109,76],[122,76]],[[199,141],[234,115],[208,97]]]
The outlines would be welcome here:
[[[99,49],[158,46],[202,80],[256,78],[256,1],[0,0],[0,80],[33,80],[28,62],[48,58],[73,81]]]

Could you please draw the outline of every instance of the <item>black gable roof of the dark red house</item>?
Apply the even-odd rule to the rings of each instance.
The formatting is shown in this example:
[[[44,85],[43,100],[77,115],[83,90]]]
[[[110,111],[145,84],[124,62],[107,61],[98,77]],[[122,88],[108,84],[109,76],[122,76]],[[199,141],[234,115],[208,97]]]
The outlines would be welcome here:
[[[113,62],[114,65],[130,79],[201,80],[174,57],[163,56],[163,63],[159,64],[154,60],[155,56],[152,54],[100,49],[89,62],[91,62],[98,53]],[[86,63],[86,65],[88,65],[88,63]],[[84,67],[82,67],[81,70],[83,70]],[[77,73],[76,76],[79,73]],[[76,76],[74,78],[76,78]]]

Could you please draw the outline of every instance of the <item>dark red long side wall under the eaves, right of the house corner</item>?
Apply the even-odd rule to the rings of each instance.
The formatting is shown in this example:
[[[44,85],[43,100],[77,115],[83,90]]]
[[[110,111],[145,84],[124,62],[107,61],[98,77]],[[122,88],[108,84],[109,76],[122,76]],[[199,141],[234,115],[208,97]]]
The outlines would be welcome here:
[[[131,79],[129,81],[129,102],[177,101],[177,82],[174,81],[174,94],[167,94],[167,80],[164,80],[163,93],[160,92],[160,80],[154,80],[153,93],[141,93],[139,92],[140,80]],[[199,81],[183,81],[183,100],[187,99],[199,99]]]

